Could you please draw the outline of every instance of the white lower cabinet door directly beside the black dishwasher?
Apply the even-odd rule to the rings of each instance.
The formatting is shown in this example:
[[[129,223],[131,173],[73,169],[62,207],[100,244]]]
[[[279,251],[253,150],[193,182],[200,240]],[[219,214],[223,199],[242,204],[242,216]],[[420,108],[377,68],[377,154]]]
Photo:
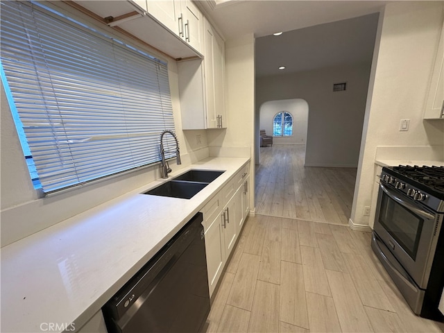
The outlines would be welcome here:
[[[218,214],[205,232],[205,251],[207,255],[208,286],[210,296],[222,274],[225,262],[225,252],[223,248],[223,235],[221,234],[221,216]]]

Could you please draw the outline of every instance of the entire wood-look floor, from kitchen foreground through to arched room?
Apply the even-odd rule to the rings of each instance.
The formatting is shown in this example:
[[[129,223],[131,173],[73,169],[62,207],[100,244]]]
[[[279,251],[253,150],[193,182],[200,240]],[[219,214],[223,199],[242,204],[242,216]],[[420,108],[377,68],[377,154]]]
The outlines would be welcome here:
[[[345,225],[356,170],[303,168],[300,148],[262,154],[259,214],[244,224],[203,332],[444,332],[413,314],[370,233]]]

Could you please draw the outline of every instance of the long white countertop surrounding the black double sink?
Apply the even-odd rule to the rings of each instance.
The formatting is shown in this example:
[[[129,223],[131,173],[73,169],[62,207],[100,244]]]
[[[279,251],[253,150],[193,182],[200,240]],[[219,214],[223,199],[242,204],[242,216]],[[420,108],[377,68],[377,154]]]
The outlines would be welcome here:
[[[80,329],[246,162],[192,164],[225,173],[189,200],[140,194],[158,180],[1,248],[1,331]]]

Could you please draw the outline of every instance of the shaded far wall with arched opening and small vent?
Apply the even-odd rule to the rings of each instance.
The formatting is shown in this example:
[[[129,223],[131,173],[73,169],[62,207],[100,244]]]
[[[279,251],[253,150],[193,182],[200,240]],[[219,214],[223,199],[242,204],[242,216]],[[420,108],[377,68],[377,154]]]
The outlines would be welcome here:
[[[304,99],[309,106],[305,165],[357,167],[370,64],[344,65],[256,79],[256,105]],[[345,92],[332,92],[347,82]]]

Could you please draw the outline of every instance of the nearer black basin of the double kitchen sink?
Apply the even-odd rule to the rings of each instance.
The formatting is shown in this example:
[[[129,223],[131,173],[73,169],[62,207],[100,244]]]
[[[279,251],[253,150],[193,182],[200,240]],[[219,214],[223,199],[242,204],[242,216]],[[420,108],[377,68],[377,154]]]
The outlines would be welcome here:
[[[193,196],[207,186],[208,182],[182,182],[170,180],[164,184],[144,192],[153,196],[169,196],[170,198],[191,199]]]

